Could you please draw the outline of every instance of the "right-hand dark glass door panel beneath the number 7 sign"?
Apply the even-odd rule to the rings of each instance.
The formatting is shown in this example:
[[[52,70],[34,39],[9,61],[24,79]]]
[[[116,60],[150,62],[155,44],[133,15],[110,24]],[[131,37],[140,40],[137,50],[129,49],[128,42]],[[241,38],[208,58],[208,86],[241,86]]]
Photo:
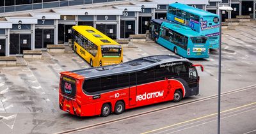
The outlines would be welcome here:
[[[46,48],[47,45],[54,44],[54,29],[44,29],[44,45]]]

